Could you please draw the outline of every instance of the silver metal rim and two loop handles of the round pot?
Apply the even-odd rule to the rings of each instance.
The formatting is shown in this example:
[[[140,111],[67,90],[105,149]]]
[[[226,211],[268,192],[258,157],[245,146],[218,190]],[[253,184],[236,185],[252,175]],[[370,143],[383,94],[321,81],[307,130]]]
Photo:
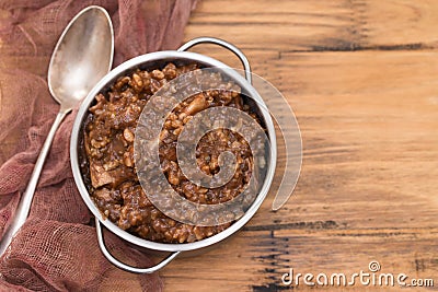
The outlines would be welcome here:
[[[147,241],[147,240],[137,237],[137,236],[122,230],[120,227],[118,227],[116,224],[114,224],[110,220],[104,219],[102,217],[101,212],[99,211],[97,207],[91,200],[90,194],[88,192],[87,187],[82,180],[82,175],[81,175],[81,171],[80,171],[80,166],[79,166],[78,150],[79,150],[79,142],[81,141],[80,136],[82,135],[81,133],[82,125],[87,117],[88,110],[94,101],[95,95],[97,95],[100,92],[102,92],[103,90],[108,87],[112,83],[114,83],[118,77],[125,75],[137,68],[153,68],[153,67],[157,68],[157,66],[169,62],[169,61],[184,60],[184,61],[197,62],[197,63],[204,65],[206,67],[231,69],[230,67],[226,66],[224,63],[222,63],[216,59],[212,59],[210,57],[207,57],[207,56],[204,56],[200,54],[186,51],[188,48],[191,48],[197,44],[203,44],[203,43],[216,44],[221,47],[224,47],[224,48],[231,50],[233,54],[235,54],[242,61],[242,65],[244,67],[245,78],[243,78],[241,74],[239,74],[234,70],[227,70],[226,73],[229,78],[232,78],[232,80],[242,87],[242,91],[245,91],[246,93],[249,93],[251,98],[253,98],[255,101],[255,105],[257,106],[257,112],[258,112],[260,116],[264,119],[263,121],[266,126],[267,137],[268,137],[269,143],[270,143],[270,149],[268,150],[269,156],[267,159],[267,171],[266,171],[265,180],[262,185],[261,191],[258,192],[257,197],[255,198],[254,202],[251,205],[249,210],[245,212],[245,214],[243,217],[241,217],[237,222],[234,222],[227,230],[224,230],[211,237],[207,237],[205,240],[194,242],[194,243],[164,244],[164,243]],[[150,273],[150,272],[154,272],[154,271],[158,271],[159,269],[163,268],[165,265],[168,265],[172,259],[174,259],[182,252],[205,248],[205,247],[211,246],[214,244],[217,244],[217,243],[223,241],[224,238],[231,236],[233,233],[235,233],[238,230],[240,230],[255,214],[255,212],[262,205],[263,200],[265,199],[265,197],[269,190],[270,184],[273,182],[275,166],[276,166],[276,160],[277,160],[277,143],[276,143],[274,124],[270,118],[270,115],[269,115],[262,97],[260,96],[257,91],[252,86],[251,68],[250,68],[250,63],[249,63],[246,57],[235,46],[233,46],[222,39],[211,38],[211,37],[200,37],[200,38],[195,38],[195,39],[186,43],[177,50],[157,51],[157,52],[146,54],[146,55],[136,57],[134,59],[130,59],[130,60],[122,63],[117,68],[113,69],[108,74],[106,74],[91,90],[91,92],[88,94],[88,96],[82,102],[82,104],[79,108],[78,115],[74,120],[72,133],[71,133],[70,157],[71,157],[71,167],[72,167],[72,172],[73,172],[73,176],[74,176],[74,180],[78,186],[78,189],[82,196],[83,201],[87,203],[88,208],[95,217],[97,241],[99,241],[99,245],[100,245],[104,256],[112,264],[114,264],[115,266],[117,266],[120,269],[124,269],[124,270],[127,270],[130,272],[137,272],[137,273]],[[124,238],[125,241],[127,241],[134,245],[143,247],[147,249],[151,249],[151,250],[170,252],[171,255],[168,256],[166,258],[164,258],[158,265],[148,267],[148,268],[137,268],[137,267],[131,267],[124,262],[120,262],[119,260],[117,260],[115,257],[113,257],[110,254],[110,252],[107,250],[107,248],[105,246],[105,242],[103,238],[102,224],[106,229],[108,229],[111,232],[113,232],[114,234],[118,235],[119,237]]]

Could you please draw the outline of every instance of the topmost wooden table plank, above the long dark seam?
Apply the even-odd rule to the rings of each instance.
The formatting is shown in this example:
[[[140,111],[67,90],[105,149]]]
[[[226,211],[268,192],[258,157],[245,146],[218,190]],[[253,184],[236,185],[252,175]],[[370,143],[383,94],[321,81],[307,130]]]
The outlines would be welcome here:
[[[242,48],[278,50],[436,47],[434,0],[200,1],[186,39],[216,36]]]

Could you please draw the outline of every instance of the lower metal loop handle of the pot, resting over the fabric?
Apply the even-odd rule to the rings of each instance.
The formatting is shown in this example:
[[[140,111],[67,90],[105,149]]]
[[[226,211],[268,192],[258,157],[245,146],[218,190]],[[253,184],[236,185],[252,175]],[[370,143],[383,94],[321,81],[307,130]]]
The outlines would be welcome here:
[[[130,271],[130,272],[136,272],[136,273],[152,273],[152,272],[155,272],[155,271],[164,268],[165,265],[171,262],[172,259],[174,259],[181,253],[181,252],[174,252],[170,256],[164,258],[162,261],[160,261],[160,264],[158,264],[155,266],[152,266],[152,267],[149,267],[149,268],[131,267],[129,265],[126,265],[126,264],[119,261],[118,259],[113,257],[112,254],[110,254],[108,249],[106,249],[105,242],[104,242],[104,238],[103,238],[103,231],[102,231],[102,225],[101,225],[102,223],[99,221],[97,218],[95,219],[95,224],[96,224],[99,247],[101,248],[102,254],[106,257],[107,260],[110,260],[111,264],[113,264],[114,266],[116,266],[117,268],[120,268],[123,270]]]

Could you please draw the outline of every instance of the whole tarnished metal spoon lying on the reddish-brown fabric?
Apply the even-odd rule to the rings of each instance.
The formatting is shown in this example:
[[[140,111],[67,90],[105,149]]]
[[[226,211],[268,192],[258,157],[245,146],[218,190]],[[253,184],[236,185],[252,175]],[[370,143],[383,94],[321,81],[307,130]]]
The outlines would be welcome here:
[[[110,71],[113,52],[113,25],[108,13],[101,7],[85,8],[62,32],[51,55],[47,77],[48,87],[53,97],[60,104],[60,110],[41,150],[15,215],[1,238],[0,256],[27,219],[39,174],[56,130],[76,104]]]

